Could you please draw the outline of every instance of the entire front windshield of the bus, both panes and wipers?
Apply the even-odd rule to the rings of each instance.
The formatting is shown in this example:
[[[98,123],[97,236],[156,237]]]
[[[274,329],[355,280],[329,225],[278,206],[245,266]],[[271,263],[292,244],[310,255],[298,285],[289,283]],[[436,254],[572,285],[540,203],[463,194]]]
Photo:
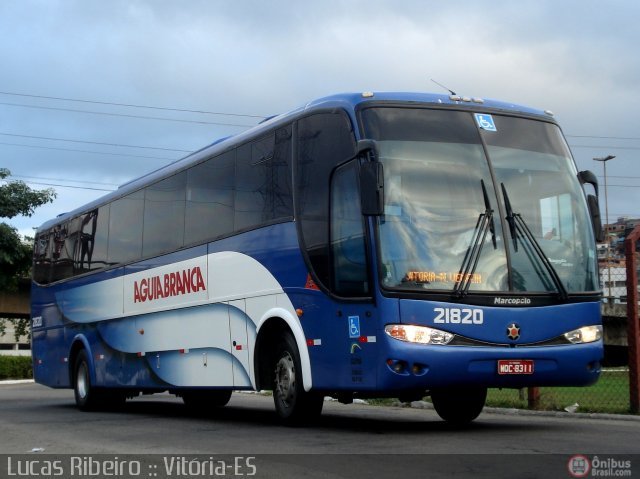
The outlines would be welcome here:
[[[384,288],[598,289],[584,195],[556,125],[397,107],[363,110],[362,119],[384,165]]]

